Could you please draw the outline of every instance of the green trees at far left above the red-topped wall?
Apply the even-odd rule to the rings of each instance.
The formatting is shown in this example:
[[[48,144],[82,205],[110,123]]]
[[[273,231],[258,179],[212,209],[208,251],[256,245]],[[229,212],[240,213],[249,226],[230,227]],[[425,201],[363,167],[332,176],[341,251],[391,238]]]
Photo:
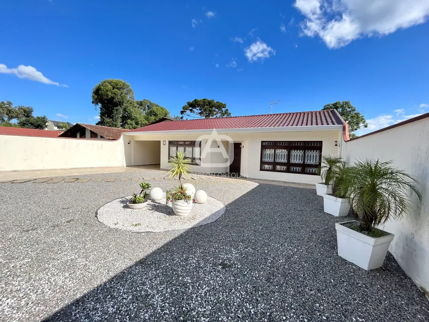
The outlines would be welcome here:
[[[10,101],[0,102],[0,125],[13,127],[26,127],[35,129],[46,128],[48,119],[46,116],[33,116],[33,108],[30,106],[13,106]],[[11,121],[16,120],[16,123]]]

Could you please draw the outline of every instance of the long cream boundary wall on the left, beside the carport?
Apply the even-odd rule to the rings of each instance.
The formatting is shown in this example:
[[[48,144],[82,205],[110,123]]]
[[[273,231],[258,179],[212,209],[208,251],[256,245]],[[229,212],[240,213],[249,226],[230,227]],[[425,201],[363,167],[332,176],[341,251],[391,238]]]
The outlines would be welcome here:
[[[0,135],[0,171],[123,165],[122,139]]]

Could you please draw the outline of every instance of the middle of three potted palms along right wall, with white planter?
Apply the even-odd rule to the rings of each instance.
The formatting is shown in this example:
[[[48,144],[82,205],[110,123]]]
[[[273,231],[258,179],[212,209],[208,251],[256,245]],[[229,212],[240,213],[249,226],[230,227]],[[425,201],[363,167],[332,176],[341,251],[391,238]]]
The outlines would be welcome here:
[[[349,173],[350,167],[344,161],[335,167],[332,172],[332,194],[323,195],[324,212],[336,217],[349,214],[348,186],[344,184],[344,181],[348,180]]]

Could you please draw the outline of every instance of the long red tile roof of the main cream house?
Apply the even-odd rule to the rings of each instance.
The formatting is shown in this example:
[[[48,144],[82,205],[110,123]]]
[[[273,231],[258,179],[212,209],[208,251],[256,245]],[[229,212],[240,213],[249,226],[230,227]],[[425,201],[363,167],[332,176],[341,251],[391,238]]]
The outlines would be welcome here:
[[[235,116],[229,118],[168,121],[143,126],[132,132],[257,128],[283,126],[343,125],[336,110]]]

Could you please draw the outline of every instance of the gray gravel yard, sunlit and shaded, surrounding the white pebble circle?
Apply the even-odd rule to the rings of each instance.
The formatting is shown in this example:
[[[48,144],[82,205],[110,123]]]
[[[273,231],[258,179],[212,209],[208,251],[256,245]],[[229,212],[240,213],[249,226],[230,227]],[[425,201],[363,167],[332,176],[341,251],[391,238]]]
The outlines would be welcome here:
[[[429,320],[428,301],[390,253],[370,272],[337,256],[334,223],[345,219],[324,214],[316,191],[195,186],[225,214],[186,232],[132,234],[95,211],[138,192],[136,182],[0,185],[0,320]]]

